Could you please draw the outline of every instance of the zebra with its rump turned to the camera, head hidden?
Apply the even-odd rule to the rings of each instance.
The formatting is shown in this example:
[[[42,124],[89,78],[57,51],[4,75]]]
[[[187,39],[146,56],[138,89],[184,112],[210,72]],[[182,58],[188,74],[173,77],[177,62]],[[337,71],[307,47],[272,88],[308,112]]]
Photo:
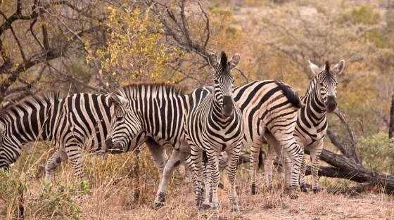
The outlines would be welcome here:
[[[288,153],[286,160],[288,176],[293,180],[286,186],[291,198],[298,198],[298,175],[303,159],[303,148],[295,141],[293,131],[297,120],[298,110],[304,103],[298,97],[298,92],[290,86],[276,80],[255,81],[236,87],[233,98],[243,113],[245,137],[243,146],[250,147],[250,176],[255,194],[255,170],[258,168],[260,146],[265,139],[276,143],[279,150]],[[295,164],[295,169],[291,165]],[[191,158],[186,159],[186,166],[193,169]],[[209,188],[205,190],[205,200]]]

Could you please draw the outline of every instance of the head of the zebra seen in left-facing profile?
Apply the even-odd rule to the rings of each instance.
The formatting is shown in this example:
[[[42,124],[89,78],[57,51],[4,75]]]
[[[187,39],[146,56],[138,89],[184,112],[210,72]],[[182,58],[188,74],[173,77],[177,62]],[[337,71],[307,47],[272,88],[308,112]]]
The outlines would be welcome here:
[[[114,115],[110,122],[108,137],[111,137],[113,149],[125,151],[129,149],[134,138],[141,131],[141,122],[130,102],[121,92],[110,94],[110,106],[114,107]],[[108,138],[109,139],[109,138]]]

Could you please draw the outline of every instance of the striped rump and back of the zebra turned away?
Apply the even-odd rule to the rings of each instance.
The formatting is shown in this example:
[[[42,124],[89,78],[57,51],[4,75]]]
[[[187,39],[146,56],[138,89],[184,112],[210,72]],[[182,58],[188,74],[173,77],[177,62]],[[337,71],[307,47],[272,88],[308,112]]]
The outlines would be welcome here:
[[[259,145],[266,131],[292,130],[303,106],[298,93],[276,80],[250,82],[235,89],[234,101],[243,113],[244,145]]]

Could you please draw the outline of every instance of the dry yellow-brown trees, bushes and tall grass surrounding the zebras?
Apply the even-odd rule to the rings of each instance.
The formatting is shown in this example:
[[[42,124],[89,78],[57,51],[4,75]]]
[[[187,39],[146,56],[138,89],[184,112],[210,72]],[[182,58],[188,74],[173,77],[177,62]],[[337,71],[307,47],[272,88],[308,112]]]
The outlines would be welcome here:
[[[356,139],[336,115],[329,117],[330,131],[345,148],[357,141],[364,167],[394,174],[394,143],[387,135],[393,30],[390,0],[1,1],[0,108],[49,91],[105,93],[131,82],[196,89],[211,84],[207,54],[222,50],[241,56],[233,71],[237,85],[280,79],[302,94],[312,77],[307,60],[322,65],[344,59],[338,108]],[[325,146],[339,152],[329,138]],[[0,173],[1,218],[15,216],[20,203],[30,204],[25,213],[32,218],[86,218],[94,211],[81,202],[85,195],[97,205],[111,200],[125,209],[153,200],[158,174],[144,148],[108,160],[89,155],[89,183],[76,183],[63,164],[51,193],[39,199],[53,150],[48,143],[29,145],[10,174]],[[182,182],[178,170],[170,196]]]

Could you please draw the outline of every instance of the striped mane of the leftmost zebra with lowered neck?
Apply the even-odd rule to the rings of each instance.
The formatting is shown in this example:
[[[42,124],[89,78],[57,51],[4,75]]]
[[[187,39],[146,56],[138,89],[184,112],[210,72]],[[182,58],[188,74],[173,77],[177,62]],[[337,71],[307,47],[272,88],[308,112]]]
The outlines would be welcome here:
[[[23,98],[22,101],[15,103],[13,105],[8,105],[6,108],[0,110],[0,119],[9,116],[10,114],[14,114],[18,112],[18,110],[22,109],[32,109],[31,106],[44,106],[56,101],[59,101],[63,98],[59,92],[51,92],[46,93],[42,96],[29,96],[27,98]]]

